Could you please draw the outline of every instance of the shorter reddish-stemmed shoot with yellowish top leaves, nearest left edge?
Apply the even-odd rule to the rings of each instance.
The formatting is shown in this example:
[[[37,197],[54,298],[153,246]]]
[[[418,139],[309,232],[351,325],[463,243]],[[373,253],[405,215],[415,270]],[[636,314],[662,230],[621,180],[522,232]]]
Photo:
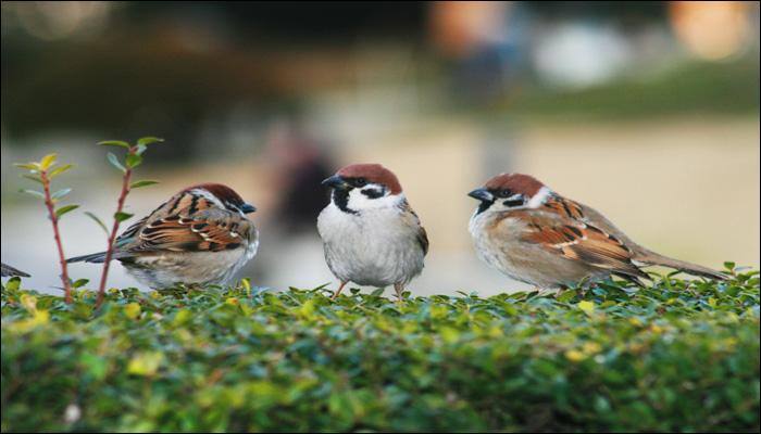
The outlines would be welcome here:
[[[66,264],[66,258],[63,254],[63,244],[61,243],[61,232],[59,230],[59,221],[64,214],[72,212],[79,207],[79,205],[63,205],[58,206],[61,199],[68,194],[72,189],[61,189],[54,193],[50,192],[50,184],[57,176],[63,174],[64,171],[72,168],[71,164],[57,165],[55,154],[48,154],[42,157],[39,162],[32,163],[17,163],[16,167],[27,170],[27,174],[22,175],[24,178],[30,179],[42,186],[42,191],[33,189],[22,189],[22,193],[29,194],[37,199],[42,200],[46,208],[48,209],[48,217],[53,226],[53,238],[55,239],[55,246],[58,247],[59,261],[61,264],[61,282],[63,283],[63,290],[65,294],[66,303],[72,303],[72,282],[68,279],[68,267]]]

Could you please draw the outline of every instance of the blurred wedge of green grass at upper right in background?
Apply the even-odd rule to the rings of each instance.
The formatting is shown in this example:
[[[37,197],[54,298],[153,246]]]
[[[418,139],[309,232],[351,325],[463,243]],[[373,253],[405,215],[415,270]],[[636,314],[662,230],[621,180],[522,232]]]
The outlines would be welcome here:
[[[759,62],[689,62],[657,75],[622,78],[565,92],[527,88],[498,104],[498,113],[523,120],[652,119],[665,115],[756,115]]]

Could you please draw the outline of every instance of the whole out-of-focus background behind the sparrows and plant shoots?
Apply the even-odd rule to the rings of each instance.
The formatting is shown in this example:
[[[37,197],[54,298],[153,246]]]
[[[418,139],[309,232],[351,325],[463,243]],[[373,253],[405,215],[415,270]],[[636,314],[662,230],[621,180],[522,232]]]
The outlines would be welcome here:
[[[473,188],[532,174],[660,253],[759,266],[758,2],[2,2],[2,260],[54,292],[41,204],[12,164],[58,152],[82,208],[67,256],[104,248],[105,139],[166,139],[142,216],[223,182],[260,212],[260,286],[335,279],[320,180],[383,163],[431,238],[417,294],[523,285],[479,263]],[[135,285],[121,266],[110,283]],[[75,264],[97,285],[100,267]],[[389,290],[390,291],[390,290]]]

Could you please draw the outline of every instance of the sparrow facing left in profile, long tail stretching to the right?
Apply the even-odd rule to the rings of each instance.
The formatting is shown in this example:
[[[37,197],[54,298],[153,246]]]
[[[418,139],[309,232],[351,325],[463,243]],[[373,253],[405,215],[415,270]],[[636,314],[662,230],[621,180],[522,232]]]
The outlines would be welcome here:
[[[647,266],[726,279],[710,268],[635,243],[602,214],[563,197],[536,178],[501,174],[469,193],[481,201],[469,229],[478,256],[502,273],[541,289],[616,276],[637,285]]]

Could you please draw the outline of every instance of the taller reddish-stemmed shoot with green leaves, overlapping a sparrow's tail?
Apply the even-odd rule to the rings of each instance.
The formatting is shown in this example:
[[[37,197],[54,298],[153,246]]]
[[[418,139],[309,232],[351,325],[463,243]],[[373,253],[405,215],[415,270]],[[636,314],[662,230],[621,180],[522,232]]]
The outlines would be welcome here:
[[[86,213],[88,217],[93,219],[105,231],[109,241],[107,246],[108,248],[105,251],[105,261],[103,261],[103,271],[100,277],[100,286],[98,288],[98,301],[96,302],[97,306],[100,306],[100,304],[103,302],[103,294],[105,293],[105,283],[109,278],[109,266],[111,264],[111,259],[113,258],[114,241],[116,240],[116,234],[118,233],[118,227],[122,224],[122,221],[125,221],[133,216],[132,214],[124,212],[124,202],[127,199],[127,194],[129,194],[129,191],[132,189],[138,189],[140,187],[147,187],[158,183],[158,181],[149,180],[133,182],[133,170],[142,163],[142,154],[148,149],[148,145],[163,141],[163,139],[159,139],[155,137],[144,137],[141,139],[138,139],[134,145],[120,140],[108,140],[98,143],[104,146],[124,148],[126,150],[126,154],[123,159],[120,159],[118,156],[116,156],[116,154],[112,152],[109,152],[107,154],[109,163],[111,163],[112,166],[114,166],[122,173],[122,191],[118,195],[118,201],[116,202],[116,212],[113,215],[114,222],[111,226],[111,231],[107,229],[103,221],[100,218],[98,218],[95,214]]]

